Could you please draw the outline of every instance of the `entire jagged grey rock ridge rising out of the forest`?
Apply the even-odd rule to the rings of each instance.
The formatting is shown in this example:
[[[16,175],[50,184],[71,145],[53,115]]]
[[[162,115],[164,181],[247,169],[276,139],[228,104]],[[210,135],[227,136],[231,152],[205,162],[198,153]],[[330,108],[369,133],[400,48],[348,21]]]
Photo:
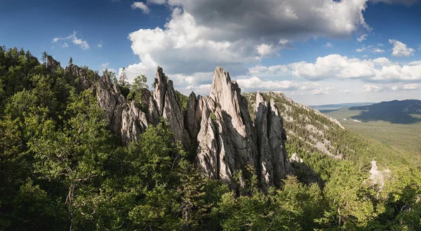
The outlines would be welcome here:
[[[142,102],[127,102],[108,76],[95,75],[92,80],[86,70],[75,65],[65,71],[79,89],[95,90],[111,130],[121,137],[123,144],[136,141],[139,134],[150,125],[157,125],[162,117],[168,120],[175,139],[182,141],[185,148],[197,144],[196,161],[201,172],[211,179],[234,187],[234,172],[241,169],[241,177],[248,179],[246,168],[250,166],[258,174],[263,190],[267,190],[269,186],[280,186],[281,180],[292,174],[283,120],[276,105],[258,93],[253,122],[241,89],[222,67],[215,70],[210,96],[196,97],[192,92],[184,112],[173,82],[160,67],[156,70],[154,90],[143,90]]]

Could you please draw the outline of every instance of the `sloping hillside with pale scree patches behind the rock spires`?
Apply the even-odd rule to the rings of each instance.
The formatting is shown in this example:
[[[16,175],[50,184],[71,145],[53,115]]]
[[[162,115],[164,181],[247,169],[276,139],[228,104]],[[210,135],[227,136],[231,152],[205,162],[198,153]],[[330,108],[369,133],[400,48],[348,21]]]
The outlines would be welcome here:
[[[281,92],[262,94],[268,100],[274,99],[279,107],[288,134],[289,155],[294,152],[309,152],[364,163],[375,159],[384,167],[408,163],[406,155],[400,151],[390,151],[394,143],[381,144],[357,132],[349,131],[335,118],[310,109],[309,106],[297,104]],[[252,99],[255,92],[244,95]],[[253,109],[253,103],[249,105],[249,109]],[[250,113],[253,117],[252,111]]]

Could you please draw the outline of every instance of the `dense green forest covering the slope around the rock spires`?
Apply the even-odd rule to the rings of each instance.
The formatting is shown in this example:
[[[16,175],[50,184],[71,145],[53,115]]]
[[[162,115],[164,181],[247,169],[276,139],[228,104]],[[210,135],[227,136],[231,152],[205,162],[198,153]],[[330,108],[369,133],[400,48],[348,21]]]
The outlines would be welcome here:
[[[0,47],[0,230],[421,230],[421,169],[408,157],[368,149],[351,132],[330,134],[338,150],[354,150],[342,159],[291,137],[288,153],[321,182],[296,174],[263,193],[250,167],[232,190],[199,172],[165,120],[123,146],[95,92],[46,59]],[[145,76],[130,85],[102,74],[127,100],[147,87]],[[183,109],[186,100],[178,93]],[[380,156],[390,171],[375,182],[370,159]]]

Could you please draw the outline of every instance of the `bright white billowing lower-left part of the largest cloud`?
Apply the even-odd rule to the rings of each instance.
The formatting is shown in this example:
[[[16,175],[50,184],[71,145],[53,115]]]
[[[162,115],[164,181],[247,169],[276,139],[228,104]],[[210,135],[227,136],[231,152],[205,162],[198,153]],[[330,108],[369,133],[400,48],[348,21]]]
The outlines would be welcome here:
[[[196,20],[180,8],[173,10],[172,19],[161,29],[140,29],[129,34],[131,48],[142,62],[141,66],[165,67],[168,73],[192,74],[213,71],[215,66],[243,69],[243,64],[257,62],[271,51],[271,44],[261,45],[252,41],[215,41],[206,27],[196,25]],[[154,64],[150,66],[149,64]]]

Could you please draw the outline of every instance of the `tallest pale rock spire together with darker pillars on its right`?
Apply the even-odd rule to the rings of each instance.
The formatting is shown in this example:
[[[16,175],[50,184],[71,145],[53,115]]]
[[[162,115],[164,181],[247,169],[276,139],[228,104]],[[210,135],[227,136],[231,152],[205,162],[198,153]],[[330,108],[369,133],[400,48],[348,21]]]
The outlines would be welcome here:
[[[281,186],[282,179],[292,174],[286,155],[286,134],[282,118],[274,105],[267,104],[262,95],[256,99],[255,126],[248,113],[248,102],[241,90],[221,67],[215,70],[210,97],[204,97],[203,107],[191,95],[193,109],[201,109],[201,127],[197,136],[197,160],[203,174],[233,184],[233,174],[242,170],[244,179],[250,177],[247,167],[258,174],[264,190]],[[194,127],[194,126],[193,126]]]

